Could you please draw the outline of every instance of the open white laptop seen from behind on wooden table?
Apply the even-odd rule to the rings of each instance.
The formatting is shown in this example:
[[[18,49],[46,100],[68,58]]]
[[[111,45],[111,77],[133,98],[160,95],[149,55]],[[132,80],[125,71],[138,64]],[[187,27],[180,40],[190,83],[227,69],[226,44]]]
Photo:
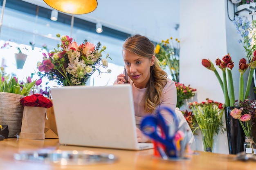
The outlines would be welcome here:
[[[138,143],[132,88],[69,86],[52,88],[54,114],[60,144],[142,150]]]

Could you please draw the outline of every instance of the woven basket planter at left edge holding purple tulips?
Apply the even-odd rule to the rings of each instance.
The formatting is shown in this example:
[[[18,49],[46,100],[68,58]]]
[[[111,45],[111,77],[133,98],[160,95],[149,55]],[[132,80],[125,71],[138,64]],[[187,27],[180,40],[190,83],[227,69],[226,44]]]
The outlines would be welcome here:
[[[20,105],[22,97],[24,96],[20,94],[0,92],[0,124],[8,125],[8,137],[15,137],[20,133],[23,116],[23,106]]]

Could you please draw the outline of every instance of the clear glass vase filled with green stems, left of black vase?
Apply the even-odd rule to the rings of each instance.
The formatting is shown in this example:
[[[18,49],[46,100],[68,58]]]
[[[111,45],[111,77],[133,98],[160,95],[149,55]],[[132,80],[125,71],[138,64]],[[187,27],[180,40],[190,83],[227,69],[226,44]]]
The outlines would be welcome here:
[[[204,144],[204,151],[206,152],[212,152],[213,149],[213,136],[214,131],[211,129],[201,129],[202,132],[202,139]]]

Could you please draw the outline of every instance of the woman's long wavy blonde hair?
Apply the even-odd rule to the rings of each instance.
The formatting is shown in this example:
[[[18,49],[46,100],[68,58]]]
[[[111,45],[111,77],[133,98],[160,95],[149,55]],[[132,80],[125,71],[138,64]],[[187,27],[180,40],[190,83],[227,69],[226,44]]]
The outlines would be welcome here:
[[[126,39],[123,49],[132,52],[140,57],[151,59],[155,55],[155,45],[147,38],[141,35],[134,35]],[[150,67],[150,79],[144,94],[144,110],[152,113],[162,100],[164,86],[167,83],[167,73],[158,65],[158,59],[155,57],[155,63]]]

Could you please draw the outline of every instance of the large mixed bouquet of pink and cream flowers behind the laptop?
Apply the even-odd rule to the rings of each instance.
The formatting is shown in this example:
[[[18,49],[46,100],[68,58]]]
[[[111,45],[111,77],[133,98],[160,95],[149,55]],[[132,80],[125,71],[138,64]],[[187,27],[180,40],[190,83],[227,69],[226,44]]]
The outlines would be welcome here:
[[[107,54],[105,59],[101,58],[106,46],[101,47],[100,42],[94,45],[85,40],[78,45],[67,35],[56,36],[61,38],[61,44],[58,44],[58,49],[48,53],[48,57],[43,53],[43,61],[37,65],[40,77],[45,76],[63,86],[85,85],[95,71],[103,73],[100,66],[108,67],[107,59],[110,57]],[[107,72],[111,73],[111,70]]]

